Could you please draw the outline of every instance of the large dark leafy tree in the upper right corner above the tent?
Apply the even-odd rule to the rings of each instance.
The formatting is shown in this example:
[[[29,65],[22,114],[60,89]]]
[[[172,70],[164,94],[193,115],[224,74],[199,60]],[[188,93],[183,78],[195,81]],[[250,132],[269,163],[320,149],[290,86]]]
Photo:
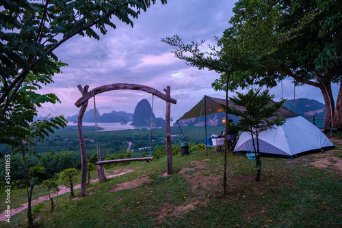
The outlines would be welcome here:
[[[342,127],[342,2],[334,0],[316,1],[238,1],[230,20],[232,27],[244,25],[244,30],[238,30],[236,35],[246,37],[245,33],[254,31],[265,20],[269,20],[274,8],[281,8],[274,27],[261,30],[264,35],[250,36],[240,40],[242,44],[268,42],[268,35],[289,31],[298,27],[298,22],[307,12],[315,12],[306,25],[293,31],[293,38],[283,40],[277,49],[261,59],[259,64],[245,70],[237,70],[232,76],[231,89],[251,85],[274,87],[287,77],[294,79],[295,85],[311,85],[321,90],[326,104],[325,125]],[[248,26],[247,26],[248,25]],[[231,28],[224,31],[222,40],[224,46],[230,44]],[[239,48],[239,46],[237,46]],[[215,87],[224,87],[224,79],[215,81]],[[332,97],[331,85],[340,86],[336,109]]]

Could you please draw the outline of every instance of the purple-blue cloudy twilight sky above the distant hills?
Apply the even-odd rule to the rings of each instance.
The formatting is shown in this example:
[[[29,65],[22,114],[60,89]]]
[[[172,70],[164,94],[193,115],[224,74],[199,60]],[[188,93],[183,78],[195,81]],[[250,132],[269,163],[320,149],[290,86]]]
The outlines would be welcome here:
[[[172,117],[189,111],[204,95],[224,98],[224,91],[211,88],[219,74],[187,66],[170,53],[174,50],[172,46],[160,40],[177,34],[185,43],[207,40],[207,44],[215,45],[214,37],[221,36],[224,29],[230,27],[228,20],[233,16],[234,4],[235,1],[212,0],[170,0],[166,5],[158,2],[133,20],[133,28],[113,18],[117,28],[107,28],[108,33],[101,35],[99,41],[75,36],[54,52],[69,66],[62,68],[62,74],[55,75],[55,83],[40,91],[42,94],[55,93],[62,103],[44,105],[38,115],[52,112],[52,116],[67,117],[77,114],[79,108],[75,102],[81,97],[77,85],[89,85],[90,91],[111,83],[136,83],[162,92],[170,85],[171,97],[177,100],[177,104],[171,104]],[[284,98],[294,97],[292,81],[282,83]],[[338,87],[333,85],[332,88],[336,100]],[[270,92],[275,94],[275,100],[282,96],[280,85]],[[101,115],[113,110],[133,113],[137,102],[143,98],[152,104],[152,96],[146,92],[107,91],[96,96],[96,108]],[[296,87],[295,98],[324,103],[320,90],[311,86]],[[92,99],[89,109],[94,109]],[[157,117],[165,117],[165,102],[155,98],[154,110]]]

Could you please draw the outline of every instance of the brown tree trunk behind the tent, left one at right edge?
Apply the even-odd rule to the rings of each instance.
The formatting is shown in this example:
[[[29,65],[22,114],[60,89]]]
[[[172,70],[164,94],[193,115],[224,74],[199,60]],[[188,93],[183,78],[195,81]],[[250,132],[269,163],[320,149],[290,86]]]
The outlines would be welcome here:
[[[324,126],[333,128],[334,126],[332,125],[332,118],[334,115],[334,98],[332,97],[331,85],[330,83],[326,83],[325,85],[321,85],[319,89],[321,89],[321,94],[323,95],[324,103],[326,104]]]

